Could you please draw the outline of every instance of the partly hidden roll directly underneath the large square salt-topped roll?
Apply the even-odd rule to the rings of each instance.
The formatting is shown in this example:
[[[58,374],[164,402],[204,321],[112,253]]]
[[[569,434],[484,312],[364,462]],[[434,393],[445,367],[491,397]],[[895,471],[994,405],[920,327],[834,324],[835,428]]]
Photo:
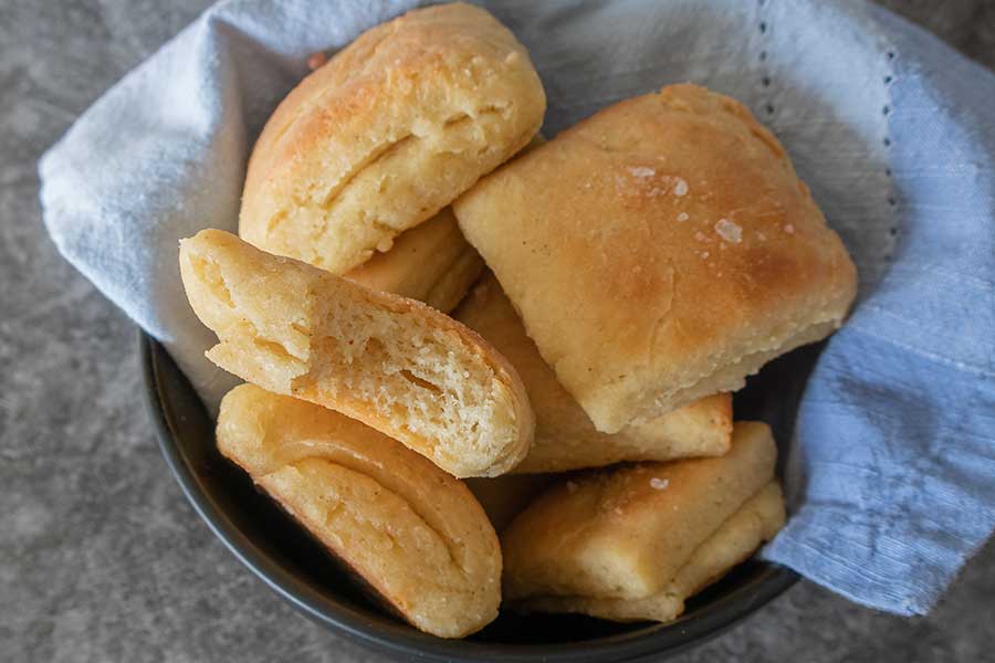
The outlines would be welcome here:
[[[486,274],[453,316],[489,340],[515,367],[535,412],[535,439],[514,472],[564,472],[620,461],[669,461],[722,455],[732,434],[732,398],[703,398],[615,434],[598,432],[556,379],[521,318]]]

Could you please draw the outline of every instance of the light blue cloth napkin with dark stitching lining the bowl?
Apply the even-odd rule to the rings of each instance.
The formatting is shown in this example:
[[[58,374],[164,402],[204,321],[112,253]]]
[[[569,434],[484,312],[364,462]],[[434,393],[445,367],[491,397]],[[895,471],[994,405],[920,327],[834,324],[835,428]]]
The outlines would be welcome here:
[[[233,230],[245,160],[306,56],[416,4],[222,2],[86,112],[41,162],[65,256],[163,339],[208,403],[231,383],[182,294],[177,240]],[[782,138],[858,265],[849,324],[790,441],[768,559],[926,612],[995,524],[995,76],[867,4],[485,3],[528,46],[554,135],[693,81]]]

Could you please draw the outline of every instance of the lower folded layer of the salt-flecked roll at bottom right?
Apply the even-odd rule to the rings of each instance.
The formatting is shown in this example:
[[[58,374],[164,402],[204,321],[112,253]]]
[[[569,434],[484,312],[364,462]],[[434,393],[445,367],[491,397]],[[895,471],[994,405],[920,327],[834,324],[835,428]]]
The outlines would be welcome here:
[[[684,601],[750,558],[784,526],[781,486],[772,481],[730,516],[698,547],[673,580],[642,599],[536,597],[514,604],[526,612],[580,612],[614,621],[670,621],[684,612]]]

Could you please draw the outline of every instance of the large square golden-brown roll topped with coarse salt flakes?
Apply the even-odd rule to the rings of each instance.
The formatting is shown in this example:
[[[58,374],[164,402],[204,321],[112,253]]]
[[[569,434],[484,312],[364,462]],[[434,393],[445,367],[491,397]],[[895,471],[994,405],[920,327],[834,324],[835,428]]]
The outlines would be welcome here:
[[[828,335],[856,270],[784,148],[694,85],[610,106],[453,204],[559,382],[616,433]]]

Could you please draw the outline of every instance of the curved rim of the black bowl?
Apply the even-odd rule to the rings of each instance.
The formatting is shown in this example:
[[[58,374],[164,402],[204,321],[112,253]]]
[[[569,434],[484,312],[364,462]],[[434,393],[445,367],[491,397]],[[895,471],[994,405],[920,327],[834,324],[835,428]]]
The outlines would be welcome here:
[[[171,357],[158,340],[143,329],[138,330],[137,341],[146,410],[153,421],[159,450],[187,501],[208,528],[242,565],[296,610],[329,631],[383,653],[439,662],[522,663],[541,660],[548,663],[584,663],[632,661],[647,656],[659,660],[721,634],[799,580],[799,576],[787,567],[761,561],[763,566],[757,577],[689,615],[666,624],[651,624],[637,631],[578,641],[576,644],[446,640],[400,623],[396,628],[385,629],[362,611],[331,600],[271,559],[202,488],[201,478],[192,471],[176,442],[177,421],[161,397],[159,362],[163,356],[169,361],[172,361]]]

